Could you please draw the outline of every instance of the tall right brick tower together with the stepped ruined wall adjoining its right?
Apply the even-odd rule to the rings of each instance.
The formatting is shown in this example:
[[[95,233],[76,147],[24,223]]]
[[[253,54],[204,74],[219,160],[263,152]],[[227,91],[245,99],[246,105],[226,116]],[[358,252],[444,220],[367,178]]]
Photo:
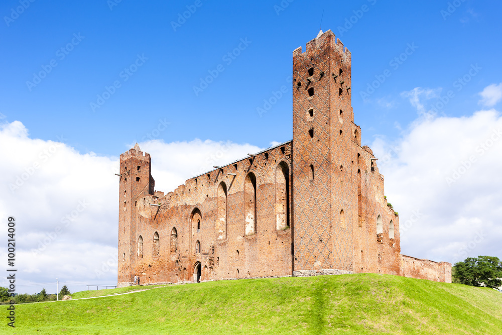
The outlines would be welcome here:
[[[375,157],[360,146],[350,87],[350,51],[331,31],[308,42],[305,52],[293,52],[295,270],[399,274],[399,217],[387,206],[383,176],[371,161]],[[378,215],[383,219],[380,236]]]

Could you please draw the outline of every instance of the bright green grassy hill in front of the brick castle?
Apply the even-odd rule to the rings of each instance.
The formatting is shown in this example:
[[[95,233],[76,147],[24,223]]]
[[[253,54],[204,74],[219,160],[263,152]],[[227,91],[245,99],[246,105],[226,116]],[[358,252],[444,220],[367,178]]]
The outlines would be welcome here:
[[[99,291],[73,296],[91,294]],[[218,281],[17,305],[15,329],[2,313],[0,331],[18,334],[502,333],[500,292],[374,274]]]

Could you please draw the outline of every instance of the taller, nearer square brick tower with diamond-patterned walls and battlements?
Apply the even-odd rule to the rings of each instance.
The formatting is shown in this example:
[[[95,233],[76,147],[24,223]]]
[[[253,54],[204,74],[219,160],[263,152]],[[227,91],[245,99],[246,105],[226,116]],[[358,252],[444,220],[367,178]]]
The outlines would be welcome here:
[[[293,51],[295,272],[353,270],[350,87],[351,54],[330,30]]]

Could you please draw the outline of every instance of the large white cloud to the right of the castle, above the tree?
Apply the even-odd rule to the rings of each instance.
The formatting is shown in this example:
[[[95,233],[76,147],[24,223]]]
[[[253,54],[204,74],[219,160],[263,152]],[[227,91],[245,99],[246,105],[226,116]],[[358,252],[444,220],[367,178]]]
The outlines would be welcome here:
[[[373,142],[385,193],[400,214],[403,254],[502,257],[501,131],[502,118],[488,110],[422,120],[396,143]]]

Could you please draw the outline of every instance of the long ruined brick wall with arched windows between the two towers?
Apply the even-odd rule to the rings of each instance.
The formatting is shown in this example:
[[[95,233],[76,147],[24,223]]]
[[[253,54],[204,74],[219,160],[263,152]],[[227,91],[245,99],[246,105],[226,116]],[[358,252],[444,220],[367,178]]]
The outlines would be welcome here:
[[[164,197],[139,199],[135,238],[138,240],[141,235],[144,239],[143,258],[138,257],[135,250],[133,276],[134,273],[140,275],[142,284],[188,281],[192,280],[197,262],[202,265],[202,280],[291,275],[291,229],[277,230],[275,212],[276,168],[281,162],[290,166],[290,156],[291,143],[286,143],[260,153],[252,163],[246,158],[224,166],[223,172],[217,169],[189,179],[186,185]],[[257,218],[256,234],[246,236],[244,179],[248,172],[256,175]],[[222,181],[227,187],[227,227],[226,238],[218,240],[216,196]],[[195,208],[201,214],[200,230],[192,217]],[[199,218],[198,215],[195,217]],[[290,212],[290,225],[291,219]],[[177,252],[171,250],[173,228],[178,233]],[[155,232],[159,234],[159,255],[152,252]],[[197,241],[200,253],[195,250]]]

